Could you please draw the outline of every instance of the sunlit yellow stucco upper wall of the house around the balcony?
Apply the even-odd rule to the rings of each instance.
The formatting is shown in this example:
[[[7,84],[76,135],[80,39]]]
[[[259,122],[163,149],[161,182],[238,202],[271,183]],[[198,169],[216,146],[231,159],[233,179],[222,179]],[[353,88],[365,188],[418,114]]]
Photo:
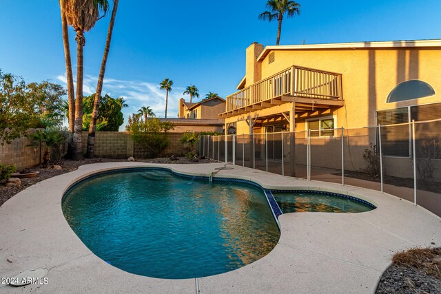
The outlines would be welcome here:
[[[349,50],[276,50],[275,61],[268,56],[260,63],[262,78],[291,65],[311,67],[342,74],[345,107],[336,111],[337,127],[375,125],[375,111],[440,102],[441,50],[422,49],[349,49]],[[400,103],[386,103],[387,95],[398,83],[420,79],[429,83],[435,96]],[[298,126],[299,127],[299,126]]]

